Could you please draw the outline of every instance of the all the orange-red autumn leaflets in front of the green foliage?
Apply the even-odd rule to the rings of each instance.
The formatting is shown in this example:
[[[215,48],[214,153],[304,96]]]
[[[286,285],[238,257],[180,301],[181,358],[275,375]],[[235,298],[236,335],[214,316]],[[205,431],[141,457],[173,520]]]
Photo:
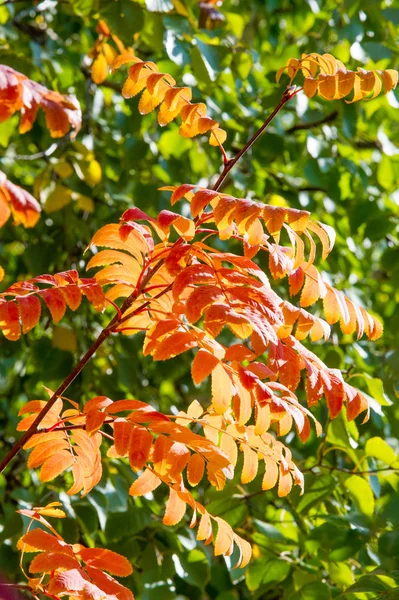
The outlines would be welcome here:
[[[215,3],[203,4],[208,10]],[[131,50],[119,48],[122,53],[113,57],[105,24],[99,34],[92,52],[94,81],[103,81],[111,58],[114,70],[130,64],[122,94],[130,98],[142,92],[142,114],[159,106],[160,125],[180,117],[182,136],[210,133],[212,145],[223,144],[224,130],[207,116],[204,104],[191,103],[188,88],[175,87],[175,79]],[[375,97],[382,87],[388,92],[397,82],[396,71],[348,71],[329,54],[290,59],[277,77],[285,70],[291,83],[302,73],[309,97],[318,93],[328,100],[352,91],[352,102]],[[6,81],[1,87],[6,98],[2,120],[20,110],[20,130],[26,131],[41,106],[53,137],[71,126],[78,130],[74,101],[9,67],[1,67],[0,76]],[[34,225],[37,203],[2,177],[3,220],[12,211],[17,221]],[[144,332],[143,353],[154,361],[194,352],[192,379],[196,385],[209,379],[209,404],[194,400],[185,411],[166,415],[139,399],[113,401],[99,395],[80,406],[79,398],[63,395],[64,385],[55,393],[48,390],[47,401],[29,400],[20,410],[18,431],[26,432],[22,440],[30,452],[28,466],[40,469],[41,481],[62,475],[68,494],[86,495],[99,483],[104,460],[125,461],[132,472],[131,496],[164,486],[169,498],[163,523],[176,525],[189,510],[197,539],[212,543],[215,555],[230,556],[237,548],[237,565],[243,567],[251,557],[250,544],[198,502],[196,486],[207,478],[214,488],[223,489],[242,455],[243,485],[262,472],[263,490],[276,487],[282,497],[297,485],[303,492],[303,474],[281,438],[292,429],[303,442],[312,428],[319,435],[321,426],[311,409],[322,399],[332,419],[341,410],[349,420],[360,414],[367,418],[368,413],[366,397],[309,345],[327,340],[337,323],[343,333],[370,340],[378,339],[382,326],[323,278],[317,257],[328,257],[334,231],[309,212],[195,184],[163,190],[171,193],[172,206],[185,203],[185,216],[163,210],[154,218],[129,208],[118,223],[105,224],[90,241],[90,278],[69,270],[19,281],[0,294],[0,328],[9,340],[17,340],[40,323],[43,306],[58,322],[67,307],[77,310],[85,296],[97,311],[114,315],[101,343],[112,334]],[[220,250],[220,242],[226,248],[229,240],[238,241],[242,253]],[[267,261],[260,263],[264,257]],[[275,282],[286,282],[289,299],[275,291]],[[317,302],[315,314],[309,312]],[[124,557],[67,544],[45,519],[64,516],[54,505],[22,512],[44,527],[30,529],[19,542],[23,553],[37,553],[29,565],[33,577],[28,576],[34,594],[69,594],[82,600],[133,597],[112,577],[131,573]]]

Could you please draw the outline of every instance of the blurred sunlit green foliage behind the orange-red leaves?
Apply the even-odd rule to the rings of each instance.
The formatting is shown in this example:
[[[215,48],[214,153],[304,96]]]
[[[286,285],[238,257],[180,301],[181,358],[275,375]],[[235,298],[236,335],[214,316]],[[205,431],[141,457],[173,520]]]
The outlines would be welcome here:
[[[275,84],[275,71],[288,58],[330,52],[351,68],[398,68],[399,8],[392,1],[225,0],[220,10],[225,21],[218,28],[200,29],[190,0],[3,1],[0,63],[75,93],[83,128],[75,142],[53,147],[43,116],[24,136],[17,116],[0,124],[1,169],[44,208],[34,229],[11,222],[2,229],[2,289],[41,273],[83,272],[83,250],[99,227],[133,204],[156,215],[168,208],[161,185],[206,186],[221,168],[218,149],[205,138],[185,140],[176,124],[161,129],[154,114],[138,114],[136,99],[121,97],[125,71],[92,83],[87,52],[99,18],[207,102],[228,131],[230,155],[277,104],[284,82]],[[288,436],[306,473],[304,496],[260,493],[259,477],[247,486],[237,477],[223,492],[200,486],[210,512],[252,540],[250,565],[232,570],[229,559],[215,559],[187,521],[163,526],[162,491],[152,500],[128,499],[132,474],[121,461],[105,461],[101,485],[85,499],[70,499],[63,478],[41,484],[21,454],[7,479],[0,477],[0,571],[21,578],[15,544],[26,524],[15,510],[60,497],[65,538],[125,554],[135,572],[124,583],[141,600],[399,598],[398,106],[398,92],[356,105],[298,95],[225,188],[304,207],[332,225],[337,243],[323,265],[326,277],[385,324],[374,344],[335,329],[330,343],[314,346],[369,394],[372,411],[366,425],[348,424],[343,414],[328,423],[321,405],[321,442],[312,437],[302,445]],[[277,290],[287,293],[282,284]],[[107,319],[86,304],[58,326],[44,317],[19,342],[0,340],[0,455],[15,441],[19,407],[44,398],[43,384],[56,388]],[[97,394],[136,397],[166,412],[208,400],[209,385],[192,384],[189,355],[153,363],[141,343],[140,336],[110,340],[68,396],[82,403]],[[367,470],[378,472],[363,476]]]

